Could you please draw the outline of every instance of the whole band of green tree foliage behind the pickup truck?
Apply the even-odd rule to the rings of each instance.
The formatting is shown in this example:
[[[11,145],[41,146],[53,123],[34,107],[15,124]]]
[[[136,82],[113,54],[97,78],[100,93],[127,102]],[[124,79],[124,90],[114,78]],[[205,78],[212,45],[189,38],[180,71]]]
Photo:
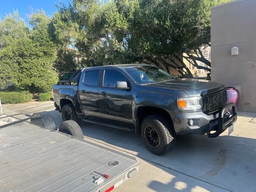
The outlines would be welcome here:
[[[185,62],[210,70],[210,8],[229,1],[73,0],[52,18],[33,13],[30,26],[14,12],[0,20],[0,87],[47,92],[57,72],[117,63],[192,77]]]

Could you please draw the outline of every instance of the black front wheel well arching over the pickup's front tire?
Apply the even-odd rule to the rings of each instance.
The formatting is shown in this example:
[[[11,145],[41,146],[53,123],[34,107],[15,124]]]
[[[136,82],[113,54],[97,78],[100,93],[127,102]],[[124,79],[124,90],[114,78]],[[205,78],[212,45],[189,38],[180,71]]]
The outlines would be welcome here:
[[[164,116],[166,119],[169,119],[169,123],[172,124],[172,119],[171,116],[169,115],[166,110],[163,110],[162,108],[157,108],[157,107],[139,107],[137,109],[137,129],[135,132],[137,134],[140,133],[140,126],[144,118],[149,115],[161,115]],[[173,125],[173,124],[172,124]]]

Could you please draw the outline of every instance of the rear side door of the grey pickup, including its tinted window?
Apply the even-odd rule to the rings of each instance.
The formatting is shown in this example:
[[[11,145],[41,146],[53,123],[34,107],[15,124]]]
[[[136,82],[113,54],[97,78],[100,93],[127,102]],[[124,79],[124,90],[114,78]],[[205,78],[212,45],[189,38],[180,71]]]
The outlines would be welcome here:
[[[78,96],[80,106],[85,115],[101,116],[98,108],[98,79],[99,69],[88,69],[80,77]]]

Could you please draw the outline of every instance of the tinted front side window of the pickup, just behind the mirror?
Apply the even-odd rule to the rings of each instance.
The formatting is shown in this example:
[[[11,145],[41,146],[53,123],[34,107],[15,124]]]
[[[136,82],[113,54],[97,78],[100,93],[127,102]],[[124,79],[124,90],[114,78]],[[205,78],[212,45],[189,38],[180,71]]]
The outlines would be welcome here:
[[[113,69],[105,69],[103,87],[115,87],[117,81],[126,81],[126,77],[119,71]]]

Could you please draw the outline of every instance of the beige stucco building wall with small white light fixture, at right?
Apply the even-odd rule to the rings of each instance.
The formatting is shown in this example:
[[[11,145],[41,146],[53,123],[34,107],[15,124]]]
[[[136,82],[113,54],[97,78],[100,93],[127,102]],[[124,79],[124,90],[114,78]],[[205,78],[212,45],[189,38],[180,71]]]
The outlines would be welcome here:
[[[240,91],[239,111],[256,113],[256,1],[213,7],[211,22],[212,80]]]

